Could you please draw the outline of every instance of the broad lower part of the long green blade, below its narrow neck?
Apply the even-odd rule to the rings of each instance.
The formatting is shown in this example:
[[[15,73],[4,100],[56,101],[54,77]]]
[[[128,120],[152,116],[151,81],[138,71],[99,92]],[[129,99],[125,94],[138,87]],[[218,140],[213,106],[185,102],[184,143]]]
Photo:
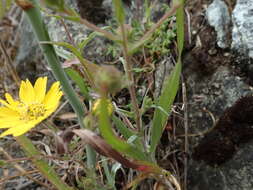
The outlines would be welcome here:
[[[180,74],[181,74],[181,62],[178,62],[171,72],[170,76],[164,81],[162,94],[159,97],[158,107],[162,108],[167,113],[171,112],[172,103],[177,94],[179,87]],[[157,144],[160,141],[162,132],[164,130],[168,115],[164,113],[160,108],[155,109],[153,124],[151,127],[151,146],[150,152],[154,153]]]

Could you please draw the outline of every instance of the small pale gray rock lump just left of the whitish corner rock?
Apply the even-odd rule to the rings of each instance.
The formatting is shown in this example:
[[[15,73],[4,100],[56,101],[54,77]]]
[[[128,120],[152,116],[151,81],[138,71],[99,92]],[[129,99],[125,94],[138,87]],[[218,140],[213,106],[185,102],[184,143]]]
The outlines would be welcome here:
[[[214,0],[206,10],[207,20],[217,32],[217,44],[220,48],[226,48],[228,44],[228,28],[230,16],[227,5],[222,0]]]

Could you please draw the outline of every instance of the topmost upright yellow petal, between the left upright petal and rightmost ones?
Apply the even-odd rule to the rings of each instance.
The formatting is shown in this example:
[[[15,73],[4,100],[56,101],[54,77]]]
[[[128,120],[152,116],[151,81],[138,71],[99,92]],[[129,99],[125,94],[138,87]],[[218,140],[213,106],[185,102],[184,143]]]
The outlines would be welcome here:
[[[34,85],[35,101],[42,102],[45,98],[47,88],[47,77],[40,77],[36,80]]]

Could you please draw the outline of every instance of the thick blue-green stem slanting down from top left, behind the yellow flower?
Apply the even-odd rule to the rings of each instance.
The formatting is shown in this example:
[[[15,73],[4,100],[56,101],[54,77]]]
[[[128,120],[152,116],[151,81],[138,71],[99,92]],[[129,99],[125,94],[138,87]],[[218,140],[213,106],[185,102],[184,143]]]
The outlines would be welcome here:
[[[24,10],[27,17],[29,18],[30,24],[33,28],[33,31],[38,39],[38,41],[50,41],[50,37],[48,35],[48,31],[43,22],[40,9],[37,3],[37,0],[16,0],[16,3]],[[64,94],[67,96],[69,103],[73,107],[77,117],[79,124],[84,128],[83,124],[83,116],[84,116],[84,104],[79,100],[76,95],[74,89],[69,83],[66,73],[61,67],[59,58],[56,55],[55,49],[51,44],[40,44],[40,47],[43,51],[43,54],[46,57],[46,60],[49,66],[52,69],[52,72],[57,80],[61,82],[62,90]],[[87,146],[87,160],[88,163],[92,165],[88,165],[89,168],[95,167],[95,152]]]

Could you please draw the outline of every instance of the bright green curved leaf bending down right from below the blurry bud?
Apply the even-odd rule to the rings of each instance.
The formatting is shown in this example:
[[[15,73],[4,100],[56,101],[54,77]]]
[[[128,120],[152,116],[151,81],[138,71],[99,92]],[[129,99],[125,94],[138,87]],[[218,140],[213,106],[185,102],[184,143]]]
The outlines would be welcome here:
[[[126,141],[117,137],[111,127],[110,118],[108,114],[108,101],[106,98],[101,99],[99,112],[99,131],[104,137],[105,141],[112,146],[113,149],[129,156],[135,160],[147,160],[145,153],[137,147],[128,144]]]

